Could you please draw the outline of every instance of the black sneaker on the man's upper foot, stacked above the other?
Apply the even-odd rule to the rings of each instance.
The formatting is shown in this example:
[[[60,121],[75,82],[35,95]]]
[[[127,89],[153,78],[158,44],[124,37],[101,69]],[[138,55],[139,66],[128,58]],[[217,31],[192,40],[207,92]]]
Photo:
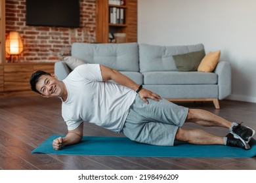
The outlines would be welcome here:
[[[250,127],[247,127],[245,125],[242,125],[242,123],[233,126],[232,131],[230,131],[234,135],[238,135],[243,139],[246,143],[249,143],[251,141],[251,137],[255,134],[255,130],[251,129]]]

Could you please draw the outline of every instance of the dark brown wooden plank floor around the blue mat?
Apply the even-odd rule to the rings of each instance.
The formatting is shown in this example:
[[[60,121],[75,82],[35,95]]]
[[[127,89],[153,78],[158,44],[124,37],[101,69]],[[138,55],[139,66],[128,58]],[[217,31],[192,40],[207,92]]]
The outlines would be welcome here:
[[[0,97],[0,169],[256,169],[256,158],[137,158],[112,156],[58,156],[31,154],[53,134],[66,134],[59,99]],[[230,121],[242,122],[256,129],[256,103],[224,100],[221,110],[213,104],[179,103],[204,108]],[[193,125],[187,125],[193,127]],[[196,126],[199,127],[199,126]],[[217,135],[227,130],[208,127]],[[84,125],[84,135],[120,136],[93,124]]]

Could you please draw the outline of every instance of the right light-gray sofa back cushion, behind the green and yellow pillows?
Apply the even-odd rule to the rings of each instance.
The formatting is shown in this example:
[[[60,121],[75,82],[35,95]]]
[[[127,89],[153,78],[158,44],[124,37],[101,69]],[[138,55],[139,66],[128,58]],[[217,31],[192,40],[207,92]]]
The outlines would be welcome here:
[[[188,46],[156,46],[139,44],[140,72],[177,71],[173,56],[203,50],[203,44]]]

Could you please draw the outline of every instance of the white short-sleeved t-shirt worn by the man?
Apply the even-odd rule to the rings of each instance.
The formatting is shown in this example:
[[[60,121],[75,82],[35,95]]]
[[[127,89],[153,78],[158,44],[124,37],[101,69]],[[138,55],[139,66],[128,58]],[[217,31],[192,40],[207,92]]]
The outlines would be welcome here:
[[[63,80],[68,98],[62,101],[62,117],[68,130],[90,122],[119,133],[136,92],[102,81],[99,64],[79,65]]]

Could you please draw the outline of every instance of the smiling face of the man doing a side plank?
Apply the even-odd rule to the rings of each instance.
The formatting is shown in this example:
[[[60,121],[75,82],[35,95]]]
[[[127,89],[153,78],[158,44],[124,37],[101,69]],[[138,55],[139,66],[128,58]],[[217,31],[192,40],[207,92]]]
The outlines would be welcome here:
[[[35,88],[43,97],[61,97],[62,88],[55,75],[42,75]]]

